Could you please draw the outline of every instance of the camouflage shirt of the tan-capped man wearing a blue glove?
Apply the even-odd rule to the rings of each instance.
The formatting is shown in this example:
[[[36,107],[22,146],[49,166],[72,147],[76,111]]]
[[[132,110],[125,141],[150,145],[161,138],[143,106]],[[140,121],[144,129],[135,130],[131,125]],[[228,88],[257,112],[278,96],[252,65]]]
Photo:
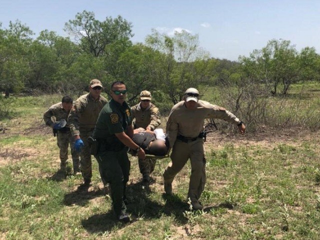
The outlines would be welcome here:
[[[90,93],[76,99],[67,120],[70,124],[72,136],[80,134],[80,131],[92,130],[106,102],[107,100],[101,95],[94,100]]]

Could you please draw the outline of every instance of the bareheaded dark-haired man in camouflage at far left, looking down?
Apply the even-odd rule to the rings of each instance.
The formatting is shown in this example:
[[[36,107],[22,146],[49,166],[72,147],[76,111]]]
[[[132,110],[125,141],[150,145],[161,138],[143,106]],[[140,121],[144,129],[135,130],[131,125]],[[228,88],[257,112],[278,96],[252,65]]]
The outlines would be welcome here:
[[[76,174],[80,171],[80,160],[79,154],[74,150],[74,138],[71,135],[69,124],[66,124],[64,127],[61,127],[59,123],[54,123],[52,117],[55,117],[56,121],[66,120],[67,116],[73,106],[73,100],[70,96],[65,95],[62,97],[62,101],[56,104],[53,104],[49,109],[44,112],[43,120],[46,125],[51,126],[53,129],[54,135],[56,134],[57,145],[60,149],[60,168],[65,169],[66,160],[68,159],[68,145],[70,144],[71,156],[73,163],[73,173]]]

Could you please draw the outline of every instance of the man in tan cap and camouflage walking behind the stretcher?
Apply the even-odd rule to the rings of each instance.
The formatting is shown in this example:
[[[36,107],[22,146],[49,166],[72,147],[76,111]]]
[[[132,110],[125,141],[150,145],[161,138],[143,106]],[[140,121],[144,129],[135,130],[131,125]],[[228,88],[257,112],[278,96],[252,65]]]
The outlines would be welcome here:
[[[160,125],[159,109],[150,102],[151,93],[147,90],[140,92],[140,102],[131,107],[132,117],[135,118],[134,128],[142,127],[153,131]],[[138,159],[142,182],[150,182],[150,173],[154,170],[155,159]]]

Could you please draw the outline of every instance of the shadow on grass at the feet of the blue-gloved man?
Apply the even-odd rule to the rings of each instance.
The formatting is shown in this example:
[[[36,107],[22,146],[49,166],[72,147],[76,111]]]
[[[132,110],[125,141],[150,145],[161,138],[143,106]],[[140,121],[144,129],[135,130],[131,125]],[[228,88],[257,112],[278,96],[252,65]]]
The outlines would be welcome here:
[[[97,189],[92,191],[88,191],[88,190],[89,190],[89,186],[84,184],[79,185],[75,191],[72,191],[64,195],[63,203],[65,205],[76,204],[76,205],[84,206],[89,202],[90,199],[93,199],[97,196],[104,194],[103,189]]]

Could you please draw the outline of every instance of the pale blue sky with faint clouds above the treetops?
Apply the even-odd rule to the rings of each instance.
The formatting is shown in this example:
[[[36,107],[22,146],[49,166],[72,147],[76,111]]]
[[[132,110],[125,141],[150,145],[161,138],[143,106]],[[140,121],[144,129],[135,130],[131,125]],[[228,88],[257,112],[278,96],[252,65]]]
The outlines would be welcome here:
[[[7,28],[19,19],[35,36],[44,29],[66,36],[64,23],[83,10],[98,20],[121,15],[133,25],[133,42],[152,28],[185,29],[212,57],[236,60],[273,38],[320,52],[320,0],[0,0],[0,22]]]

